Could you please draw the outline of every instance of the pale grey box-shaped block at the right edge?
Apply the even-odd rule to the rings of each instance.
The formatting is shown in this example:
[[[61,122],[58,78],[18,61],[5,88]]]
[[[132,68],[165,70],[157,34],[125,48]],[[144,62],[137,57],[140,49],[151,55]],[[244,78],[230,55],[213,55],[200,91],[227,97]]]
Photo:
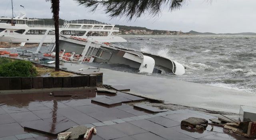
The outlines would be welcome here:
[[[256,122],[256,107],[240,106],[239,118],[241,122]]]

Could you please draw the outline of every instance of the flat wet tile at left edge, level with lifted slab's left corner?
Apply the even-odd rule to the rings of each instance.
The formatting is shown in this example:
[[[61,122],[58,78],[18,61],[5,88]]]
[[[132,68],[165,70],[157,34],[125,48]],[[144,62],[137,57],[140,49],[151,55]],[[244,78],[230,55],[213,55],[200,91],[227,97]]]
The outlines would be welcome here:
[[[24,129],[18,123],[0,125],[0,138],[25,133],[27,132],[25,132]]]

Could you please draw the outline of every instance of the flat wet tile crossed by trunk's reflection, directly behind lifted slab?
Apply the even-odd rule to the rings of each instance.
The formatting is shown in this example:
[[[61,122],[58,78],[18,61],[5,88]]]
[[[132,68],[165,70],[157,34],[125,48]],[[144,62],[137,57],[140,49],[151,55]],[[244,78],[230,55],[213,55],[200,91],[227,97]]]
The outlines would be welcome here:
[[[47,119],[47,118],[55,118],[55,117],[61,117],[62,114],[58,113],[58,110],[54,112],[54,110],[48,109],[48,110],[38,110],[38,111],[32,111],[36,116],[38,116],[41,119]]]

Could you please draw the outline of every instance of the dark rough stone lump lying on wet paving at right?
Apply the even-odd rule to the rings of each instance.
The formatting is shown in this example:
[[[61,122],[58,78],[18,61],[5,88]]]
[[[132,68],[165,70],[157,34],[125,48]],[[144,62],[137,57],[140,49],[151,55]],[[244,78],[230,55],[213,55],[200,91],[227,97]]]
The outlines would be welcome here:
[[[208,121],[206,119],[203,118],[196,118],[196,117],[190,117],[188,119],[182,120],[181,121],[181,125],[183,126],[190,126],[195,128],[197,125],[201,125],[201,124],[208,124]]]

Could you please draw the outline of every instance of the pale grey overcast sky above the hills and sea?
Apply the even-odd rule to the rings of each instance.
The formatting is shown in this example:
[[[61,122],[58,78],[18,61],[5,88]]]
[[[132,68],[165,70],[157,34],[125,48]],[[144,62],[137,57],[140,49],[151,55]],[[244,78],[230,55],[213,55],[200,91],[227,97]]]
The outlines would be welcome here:
[[[29,18],[52,18],[50,2],[45,0],[13,0],[14,12],[24,12]],[[0,16],[12,16],[11,0],[1,0]],[[103,11],[88,12],[73,0],[60,0],[60,18],[90,19],[112,24],[142,26],[158,30],[190,30],[214,33],[256,32],[256,0],[187,0],[180,10],[162,10],[158,18],[142,16],[137,20],[110,18]]]

